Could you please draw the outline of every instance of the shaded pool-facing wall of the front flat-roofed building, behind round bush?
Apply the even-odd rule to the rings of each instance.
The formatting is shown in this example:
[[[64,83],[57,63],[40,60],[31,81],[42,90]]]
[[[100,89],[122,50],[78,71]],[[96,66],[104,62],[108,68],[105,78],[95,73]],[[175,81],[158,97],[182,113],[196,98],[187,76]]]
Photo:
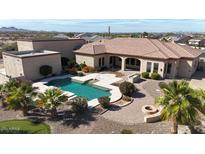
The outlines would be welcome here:
[[[43,78],[39,73],[39,69],[43,65],[49,65],[52,67],[53,74],[61,73],[61,55],[46,55],[31,58],[23,58],[23,70],[24,76],[29,80],[37,80]]]

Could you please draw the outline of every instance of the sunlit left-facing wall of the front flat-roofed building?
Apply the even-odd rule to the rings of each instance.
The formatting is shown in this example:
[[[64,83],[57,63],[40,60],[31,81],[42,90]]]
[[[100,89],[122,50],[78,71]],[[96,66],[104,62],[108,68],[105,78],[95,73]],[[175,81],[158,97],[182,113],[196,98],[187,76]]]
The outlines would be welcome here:
[[[24,75],[21,58],[3,55],[3,59],[4,59],[4,68],[6,71],[6,75],[14,78]]]

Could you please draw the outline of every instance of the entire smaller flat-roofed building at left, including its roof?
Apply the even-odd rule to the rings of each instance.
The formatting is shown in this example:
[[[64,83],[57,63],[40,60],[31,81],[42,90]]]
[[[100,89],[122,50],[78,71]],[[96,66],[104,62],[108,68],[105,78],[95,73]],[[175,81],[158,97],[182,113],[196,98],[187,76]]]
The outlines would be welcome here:
[[[5,75],[11,78],[25,78],[27,80],[38,80],[43,76],[40,67],[49,65],[52,74],[61,73],[61,54],[48,50],[33,51],[10,51],[3,52]]]

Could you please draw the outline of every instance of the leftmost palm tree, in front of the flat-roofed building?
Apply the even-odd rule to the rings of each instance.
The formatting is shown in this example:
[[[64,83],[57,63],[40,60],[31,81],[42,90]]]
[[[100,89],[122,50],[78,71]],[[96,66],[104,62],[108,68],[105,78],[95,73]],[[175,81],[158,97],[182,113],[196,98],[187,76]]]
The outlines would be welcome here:
[[[30,83],[21,82],[17,87],[13,86],[10,90],[6,98],[7,108],[22,110],[23,114],[27,115],[29,107],[35,106],[36,88],[32,87]]]

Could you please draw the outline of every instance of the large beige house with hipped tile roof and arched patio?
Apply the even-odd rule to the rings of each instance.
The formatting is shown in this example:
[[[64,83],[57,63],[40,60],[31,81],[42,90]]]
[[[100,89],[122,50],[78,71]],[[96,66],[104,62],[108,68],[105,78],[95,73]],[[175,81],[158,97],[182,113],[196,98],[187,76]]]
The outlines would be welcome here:
[[[147,38],[116,38],[83,45],[76,62],[92,67],[158,72],[163,78],[189,78],[196,71],[201,51],[187,45]]]

